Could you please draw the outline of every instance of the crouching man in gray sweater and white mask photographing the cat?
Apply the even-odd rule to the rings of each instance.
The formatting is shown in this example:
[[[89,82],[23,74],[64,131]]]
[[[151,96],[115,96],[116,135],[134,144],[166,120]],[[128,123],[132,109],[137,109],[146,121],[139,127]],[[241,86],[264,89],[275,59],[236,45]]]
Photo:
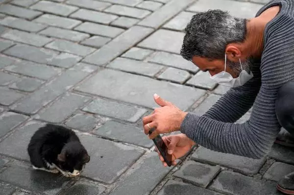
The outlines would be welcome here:
[[[185,31],[181,55],[231,89],[202,116],[154,95],[161,107],[143,119],[146,134],[155,129],[149,138],[180,130],[164,138],[173,160],[195,143],[259,159],[270,151],[281,127],[294,134],[293,0],[271,0],[250,20],[221,10],[197,13]],[[234,123],[251,107],[247,122]],[[294,194],[294,173],[277,188]]]

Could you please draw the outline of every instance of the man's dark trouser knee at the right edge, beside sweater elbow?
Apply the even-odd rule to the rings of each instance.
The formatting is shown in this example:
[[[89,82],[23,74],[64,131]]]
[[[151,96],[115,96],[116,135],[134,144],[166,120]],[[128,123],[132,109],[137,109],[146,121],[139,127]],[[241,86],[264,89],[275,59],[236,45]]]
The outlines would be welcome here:
[[[275,109],[278,122],[294,136],[294,82],[279,89]]]

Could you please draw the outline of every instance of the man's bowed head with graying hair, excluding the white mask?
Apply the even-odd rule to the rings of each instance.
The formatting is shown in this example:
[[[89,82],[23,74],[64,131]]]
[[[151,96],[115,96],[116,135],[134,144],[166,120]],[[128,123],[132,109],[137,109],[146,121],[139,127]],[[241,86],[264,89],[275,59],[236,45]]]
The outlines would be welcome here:
[[[243,52],[247,35],[246,20],[232,17],[228,12],[209,10],[197,13],[187,25],[181,55],[192,61],[202,71],[213,76],[224,71],[234,78],[242,68],[249,72],[253,58]],[[247,56],[246,56],[247,55]]]

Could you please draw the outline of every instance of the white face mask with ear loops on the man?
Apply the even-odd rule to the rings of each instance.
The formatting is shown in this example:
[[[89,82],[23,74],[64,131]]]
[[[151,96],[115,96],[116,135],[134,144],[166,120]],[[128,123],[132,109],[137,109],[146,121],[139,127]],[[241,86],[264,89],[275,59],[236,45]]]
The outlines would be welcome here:
[[[224,58],[224,71],[221,71],[221,73],[217,73],[211,76],[210,78],[215,82],[219,83],[220,85],[224,85],[227,87],[239,87],[244,85],[248,80],[250,80],[253,77],[253,73],[250,71],[250,74],[248,74],[245,70],[243,70],[241,59],[239,59],[239,61],[242,72],[239,74],[238,78],[233,78],[233,76],[230,73],[225,72],[226,54]]]

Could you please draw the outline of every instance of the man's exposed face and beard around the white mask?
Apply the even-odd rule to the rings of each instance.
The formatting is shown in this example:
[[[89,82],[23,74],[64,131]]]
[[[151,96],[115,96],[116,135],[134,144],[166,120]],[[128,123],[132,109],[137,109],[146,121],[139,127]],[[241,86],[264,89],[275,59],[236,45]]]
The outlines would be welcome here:
[[[194,56],[192,58],[192,62],[203,72],[209,72],[211,76],[221,73],[221,71],[224,71],[224,60],[210,60],[207,58]],[[242,62],[242,68],[243,70],[247,71],[249,73],[250,68],[252,67],[253,59],[249,57],[246,61]],[[225,72],[230,73],[233,78],[237,78],[239,74],[241,73],[241,65],[240,61],[233,62],[229,61],[227,59],[226,61],[226,70]]]

